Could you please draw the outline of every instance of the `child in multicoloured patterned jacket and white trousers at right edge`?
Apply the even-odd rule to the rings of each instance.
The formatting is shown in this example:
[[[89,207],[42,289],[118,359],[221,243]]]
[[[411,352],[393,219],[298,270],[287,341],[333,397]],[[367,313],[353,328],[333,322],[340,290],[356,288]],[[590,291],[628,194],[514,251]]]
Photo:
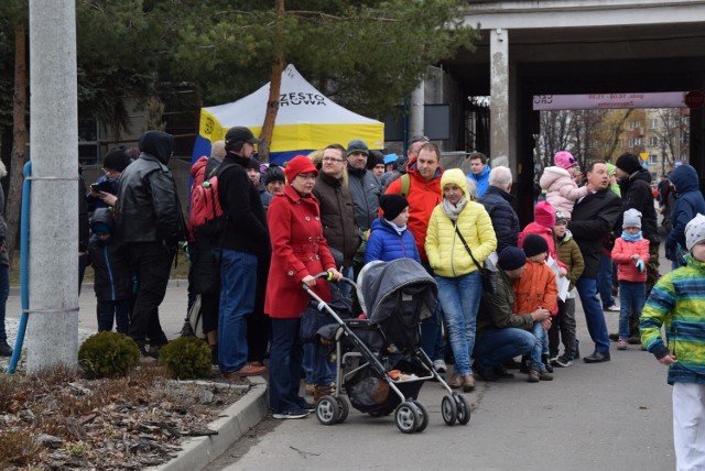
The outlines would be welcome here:
[[[651,289],[639,327],[647,350],[669,366],[676,469],[694,470],[705,469],[705,216],[685,226],[685,266]]]

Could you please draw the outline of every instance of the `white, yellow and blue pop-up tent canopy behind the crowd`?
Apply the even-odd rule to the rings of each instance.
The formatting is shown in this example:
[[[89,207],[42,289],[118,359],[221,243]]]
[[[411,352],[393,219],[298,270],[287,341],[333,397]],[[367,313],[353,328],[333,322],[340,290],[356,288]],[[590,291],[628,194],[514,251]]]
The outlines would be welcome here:
[[[254,135],[260,135],[269,88],[268,83],[231,103],[202,108],[193,158],[209,155],[210,143],[224,139],[234,125],[248,127]],[[325,149],[332,143],[346,145],[354,139],[364,140],[370,149],[381,150],[384,124],[333,102],[306,81],[292,64],[286,66],[282,72],[270,161],[281,165],[294,155]]]

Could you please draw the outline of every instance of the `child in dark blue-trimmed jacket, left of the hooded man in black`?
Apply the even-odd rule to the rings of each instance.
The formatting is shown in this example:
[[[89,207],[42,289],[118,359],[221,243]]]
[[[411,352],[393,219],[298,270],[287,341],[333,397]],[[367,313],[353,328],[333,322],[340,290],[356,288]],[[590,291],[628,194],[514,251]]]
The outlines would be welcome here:
[[[118,332],[127,335],[132,305],[132,276],[124,253],[115,241],[112,213],[107,208],[96,209],[90,230],[93,236],[88,254],[95,272],[98,331],[112,330],[115,317]]]

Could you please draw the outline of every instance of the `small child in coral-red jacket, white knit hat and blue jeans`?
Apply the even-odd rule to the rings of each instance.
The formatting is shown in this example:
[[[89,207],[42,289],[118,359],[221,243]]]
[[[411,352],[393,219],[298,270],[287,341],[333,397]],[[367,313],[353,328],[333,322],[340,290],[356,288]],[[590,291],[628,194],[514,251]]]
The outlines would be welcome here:
[[[641,212],[636,209],[625,211],[621,237],[615,241],[612,261],[617,264],[619,281],[619,340],[617,350],[627,350],[629,316],[633,308],[637,316],[647,302],[647,263],[649,263],[649,240],[641,236]]]

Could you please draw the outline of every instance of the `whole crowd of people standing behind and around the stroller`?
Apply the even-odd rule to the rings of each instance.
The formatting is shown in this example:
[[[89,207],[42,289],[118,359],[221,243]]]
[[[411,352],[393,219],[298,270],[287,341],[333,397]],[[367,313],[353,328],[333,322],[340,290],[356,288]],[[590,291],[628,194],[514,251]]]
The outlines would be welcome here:
[[[372,261],[409,258],[437,282],[436,309],[421,324],[422,348],[441,373],[453,360],[451,387],[470,392],[476,380],[513,377],[511,369],[531,383],[553,380],[554,368],[581,358],[579,297],[594,342],[585,363],[610,361],[610,341],[617,350],[643,344],[671,365],[669,382],[683,385],[674,404],[677,396],[690,409],[674,414],[674,424],[691,419],[695,404],[702,417],[705,319],[696,294],[705,283],[705,199],[692,166],[676,167],[659,184],[665,253],[680,269],[659,281],[651,174],[633,154],[615,165],[593,161],[583,173],[570,152],[557,152],[540,177],[534,220],[522,229],[511,171],[490,168],[480,153],[469,155],[466,175],[441,168],[441,151],[425,136],[393,160],[355,139],[280,167],[253,157],[259,142],[249,129],[230,128],[192,167],[194,188],[217,177],[223,223],[215,232],[186,223],[167,166],[171,135],[148,131],[139,154],[116,149],[106,155],[105,176],[83,201],[91,236],[82,264],[95,269],[99,330],[115,324],[142,354],[159,355],[167,342],[159,306],[178,244],[187,240],[189,305],[199,297],[214,364],[225,379],[261,375],[269,355],[274,417],[302,418],[314,409],[305,394],[317,399],[335,380],[328,351],[299,337],[308,303],[302,284],[324,300],[349,297],[349,285],[335,282],[355,278]],[[492,292],[482,288],[484,266],[497,273]],[[0,297],[7,297],[4,247],[2,267]],[[315,277],[321,272],[334,283]],[[608,309],[619,310],[614,333]],[[11,354],[4,330],[0,354]],[[693,441],[688,434],[681,434],[676,451]]]

